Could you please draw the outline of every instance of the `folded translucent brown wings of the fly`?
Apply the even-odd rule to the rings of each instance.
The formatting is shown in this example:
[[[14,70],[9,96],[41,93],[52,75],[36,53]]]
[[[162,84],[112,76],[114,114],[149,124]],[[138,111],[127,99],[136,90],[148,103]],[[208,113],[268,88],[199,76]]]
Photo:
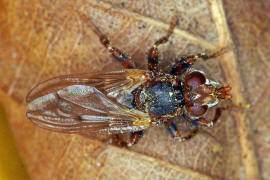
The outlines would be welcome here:
[[[150,126],[147,113],[129,108],[131,91],[149,72],[125,70],[60,76],[27,95],[27,117],[40,127],[64,133],[125,133]]]

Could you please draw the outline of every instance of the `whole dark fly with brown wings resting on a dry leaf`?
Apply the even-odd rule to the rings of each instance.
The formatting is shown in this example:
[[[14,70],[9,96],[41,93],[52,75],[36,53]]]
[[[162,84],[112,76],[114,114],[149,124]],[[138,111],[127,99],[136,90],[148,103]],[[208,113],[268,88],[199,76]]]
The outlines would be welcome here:
[[[38,84],[26,97],[26,115],[34,124],[62,133],[112,134],[114,144],[131,146],[139,141],[144,130],[154,125],[165,126],[173,139],[185,141],[194,137],[201,127],[217,122],[223,108],[216,109],[211,121],[203,115],[220,99],[231,99],[231,87],[221,87],[191,66],[198,59],[220,56],[223,50],[177,58],[169,73],[160,72],[158,48],[173,33],[176,21],[172,20],[167,34],[148,52],[148,70],[139,70],[89,18],[78,14],[125,69],[64,75]],[[192,124],[185,136],[175,124],[180,118]],[[118,138],[123,133],[130,133],[128,142]]]

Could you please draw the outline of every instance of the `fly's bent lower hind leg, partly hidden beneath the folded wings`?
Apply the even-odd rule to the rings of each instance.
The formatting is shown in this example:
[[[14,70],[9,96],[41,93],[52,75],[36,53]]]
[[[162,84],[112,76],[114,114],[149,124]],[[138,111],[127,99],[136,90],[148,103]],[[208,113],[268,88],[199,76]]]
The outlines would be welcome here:
[[[143,137],[143,131],[131,132],[128,141],[123,140],[118,134],[112,136],[112,144],[118,147],[131,147],[139,142]]]

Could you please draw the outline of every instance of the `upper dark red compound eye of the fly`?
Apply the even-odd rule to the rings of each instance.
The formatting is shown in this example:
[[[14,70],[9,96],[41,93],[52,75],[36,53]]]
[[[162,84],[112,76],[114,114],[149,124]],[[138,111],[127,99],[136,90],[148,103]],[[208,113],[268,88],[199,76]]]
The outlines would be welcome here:
[[[206,81],[204,75],[198,71],[192,72],[185,77],[186,86],[195,88],[201,84],[204,84]]]

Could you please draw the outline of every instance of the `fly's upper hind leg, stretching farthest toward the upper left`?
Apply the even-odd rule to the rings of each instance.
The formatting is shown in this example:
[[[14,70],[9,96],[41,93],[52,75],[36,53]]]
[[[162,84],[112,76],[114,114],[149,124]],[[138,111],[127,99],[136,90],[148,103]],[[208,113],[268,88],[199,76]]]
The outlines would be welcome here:
[[[100,42],[109,50],[111,55],[117,61],[119,61],[124,66],[124,68],[132,69],[135,67],[133,60],[130,58],[130,56],[128,56],[128,54],[119,50],[116,47],[113,47],[109,38],[105,34],[103,34],[88,17],[86,17],[81,12],[78,12],[78,14],[80,18],[87,24],[87,26],[95,32],[95,34],[99,37]]]

